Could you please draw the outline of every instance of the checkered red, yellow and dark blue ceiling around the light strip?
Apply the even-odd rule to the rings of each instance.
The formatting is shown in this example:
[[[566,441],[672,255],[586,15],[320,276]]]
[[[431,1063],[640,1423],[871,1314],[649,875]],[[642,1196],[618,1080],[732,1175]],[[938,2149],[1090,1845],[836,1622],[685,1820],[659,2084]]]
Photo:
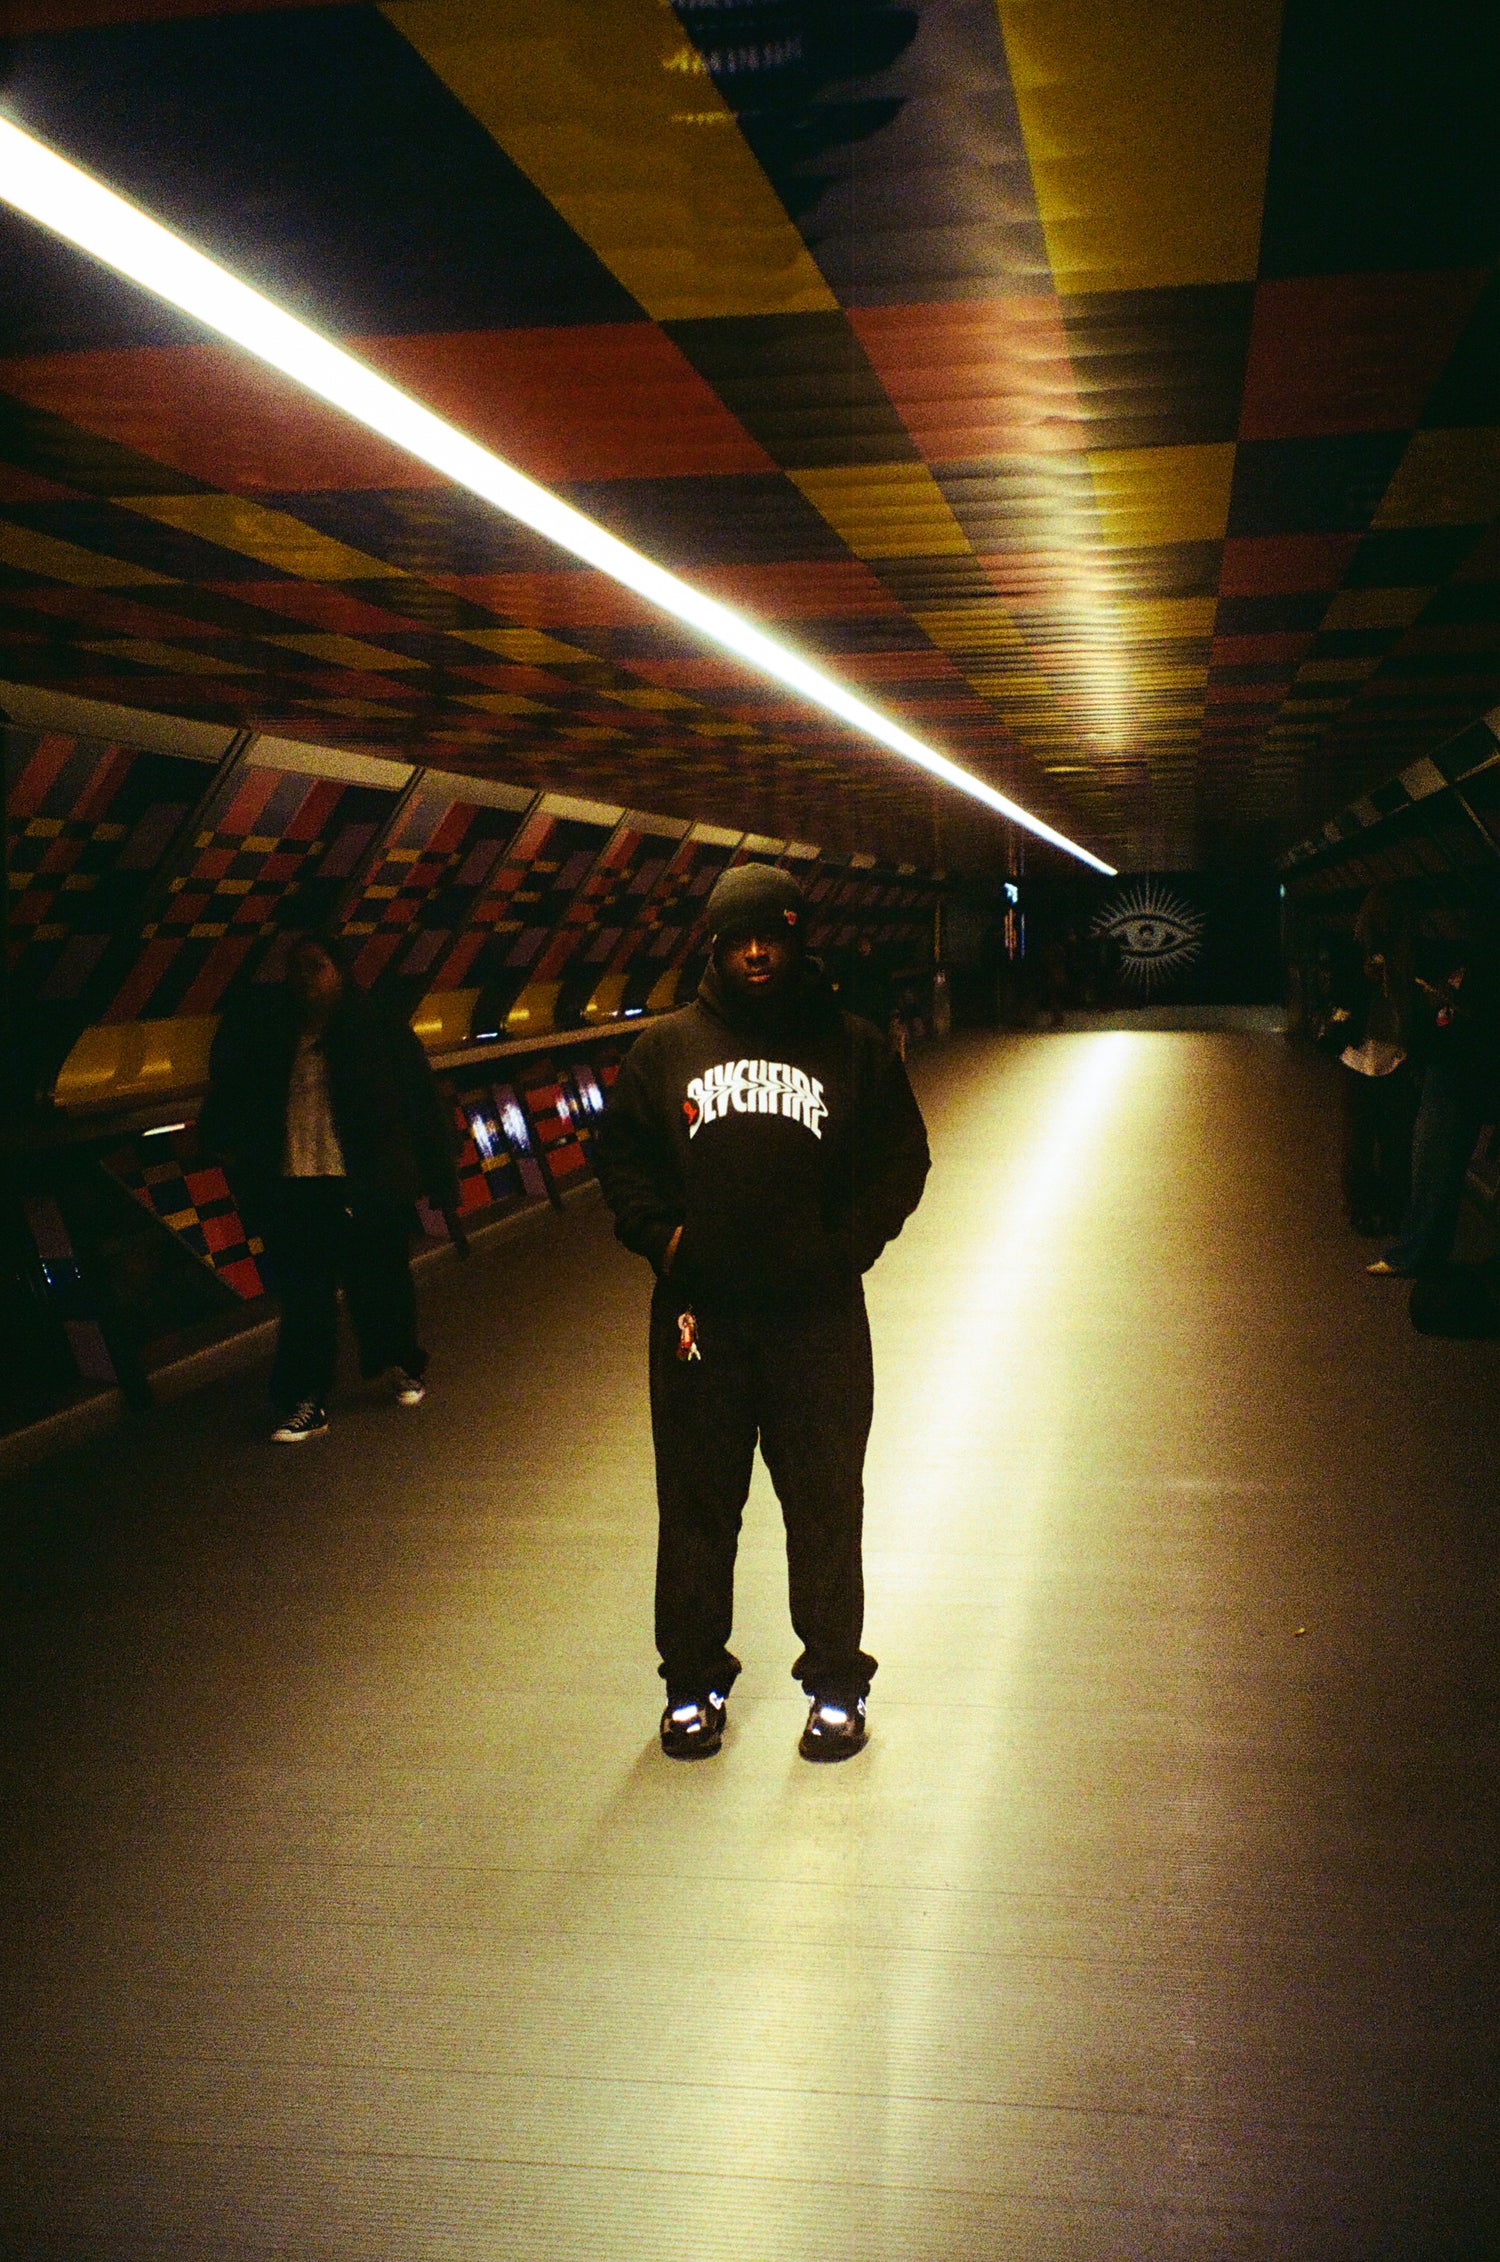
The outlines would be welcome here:
[[[1500,697],[1495,11],[7,0],[2,104],[1122,866]],[[0,208],[0,679],[998,828]],[[934,835],[934,828],[937,835]]]

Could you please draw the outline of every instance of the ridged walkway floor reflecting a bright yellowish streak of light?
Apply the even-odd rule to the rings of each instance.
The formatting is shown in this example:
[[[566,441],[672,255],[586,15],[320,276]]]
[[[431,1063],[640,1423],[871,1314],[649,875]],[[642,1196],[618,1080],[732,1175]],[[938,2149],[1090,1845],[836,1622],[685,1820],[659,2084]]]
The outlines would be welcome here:
[[[846,1767],[762,1479],[724,1755],[656,1749],[595,1203],[432,1278],[421,1414],[224,1384],[14,1486],[0,2251],[1500,2253],[1500,1348],[1364,1278],[1281,1038],[921,1086]]]

